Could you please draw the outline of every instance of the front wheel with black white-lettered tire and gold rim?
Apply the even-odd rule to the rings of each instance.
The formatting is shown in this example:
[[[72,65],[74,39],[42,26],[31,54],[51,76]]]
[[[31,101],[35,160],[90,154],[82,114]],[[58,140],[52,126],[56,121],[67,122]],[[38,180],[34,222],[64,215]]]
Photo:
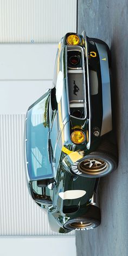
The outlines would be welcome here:
[[[116,170],[117,164],[115,145],[104,140],[97,151],[75,162],[71,171],[83,177],[100,178]]]

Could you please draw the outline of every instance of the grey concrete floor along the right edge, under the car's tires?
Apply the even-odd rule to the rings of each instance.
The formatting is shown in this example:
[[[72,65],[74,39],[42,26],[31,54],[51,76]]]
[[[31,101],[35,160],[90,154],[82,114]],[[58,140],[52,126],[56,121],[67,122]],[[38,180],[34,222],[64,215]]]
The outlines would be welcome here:
[[[76,232],[77,256],[128,255],[128,2],[79,0],[78,33],[104,40],[111,49],[113,123],[118,169],[99,184],[101,225]]]

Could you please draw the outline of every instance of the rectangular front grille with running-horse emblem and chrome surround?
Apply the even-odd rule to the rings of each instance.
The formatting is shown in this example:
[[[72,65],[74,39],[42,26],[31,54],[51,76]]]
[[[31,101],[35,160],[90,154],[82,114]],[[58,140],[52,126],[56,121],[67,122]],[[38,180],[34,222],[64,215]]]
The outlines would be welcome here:
[[[86,118],[86,86],[84,53],[81,47],[71,46],[67,49],[67,78],[69,108],[71,116]]]

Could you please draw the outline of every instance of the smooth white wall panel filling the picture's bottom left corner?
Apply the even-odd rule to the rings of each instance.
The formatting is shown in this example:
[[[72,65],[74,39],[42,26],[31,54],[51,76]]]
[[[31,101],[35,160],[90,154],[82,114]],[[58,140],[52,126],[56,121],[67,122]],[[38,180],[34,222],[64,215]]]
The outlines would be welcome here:
[[[8,245],[8,246],[7,246]],[[75,237],[2,237],[1,256],[76,256]]]

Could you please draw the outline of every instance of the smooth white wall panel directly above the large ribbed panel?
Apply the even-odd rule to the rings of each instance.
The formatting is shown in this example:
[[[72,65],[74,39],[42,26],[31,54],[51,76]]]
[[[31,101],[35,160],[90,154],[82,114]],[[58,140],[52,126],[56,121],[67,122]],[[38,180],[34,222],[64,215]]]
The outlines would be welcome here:
[[[0,114],[26,113],[28,107],[50,87],[52,80],[0,80]]]

